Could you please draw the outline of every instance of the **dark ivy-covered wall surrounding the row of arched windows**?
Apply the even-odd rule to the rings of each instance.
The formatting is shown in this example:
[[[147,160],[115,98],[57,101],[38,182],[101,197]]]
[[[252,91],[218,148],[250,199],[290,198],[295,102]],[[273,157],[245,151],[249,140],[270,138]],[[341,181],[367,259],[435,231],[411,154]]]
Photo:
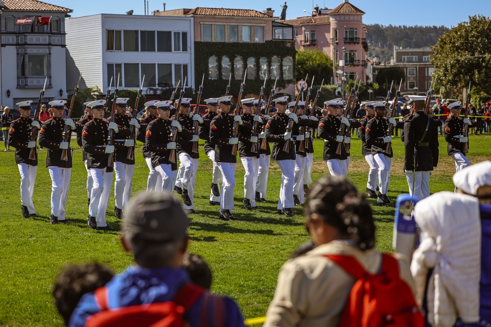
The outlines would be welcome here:
[[[295,76],[295,56],[297,50],[295,49],[294,41],[278,41],[270,40],[264,43],[225,43],[225,42],[194,42],[194,80],[196,81],[196,88],[203,74],[205,74],[205,81],[203,84],[202,99],[217,98],[225,94],[228,79],[221,79],[221,58],[227,56],[231,63],[232,81],[230,83],[230,95],[237,96],[241,86],[241,80],[234,79],[234,59],[237,56],[241,56],[245,67],[247,67],[247,58],[254,57],[256,59],[256,78],[247,79],[244,93],[245,94],[259,94],[261,86],[264,80],[259,78],[259,58],[266,57],[268,59],[268,67],[271,69],[271,58],[273,56],[280,59],[280,73],[281,77],[278,78],[276,87],[285,87],[287,84],[295,83],[295,80],[284,80],[282,76],[283,72],[283,58],[291,57],[293,60],[293,75]],[[209,79],[208,59],[211,56],[218,58],[218,79]],[[268,76],[270,72],[268,72]],[[274,79],[266,81],[266,95],[268,96],[271,88],[274,85]]]

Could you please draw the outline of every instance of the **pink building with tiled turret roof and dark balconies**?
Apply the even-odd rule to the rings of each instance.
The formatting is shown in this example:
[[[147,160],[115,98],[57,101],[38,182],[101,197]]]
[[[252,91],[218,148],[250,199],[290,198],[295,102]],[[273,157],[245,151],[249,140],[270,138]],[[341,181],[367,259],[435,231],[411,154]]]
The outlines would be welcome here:
[[[280,22],[294,26],[297,48],[317,49],[333,59],[333,83],[341,87],[343,74],[351,79],[358,75],[366,83],[368,45],[363,14],[349,0],[344,0],[334,9],[315,7],[311,16]]]

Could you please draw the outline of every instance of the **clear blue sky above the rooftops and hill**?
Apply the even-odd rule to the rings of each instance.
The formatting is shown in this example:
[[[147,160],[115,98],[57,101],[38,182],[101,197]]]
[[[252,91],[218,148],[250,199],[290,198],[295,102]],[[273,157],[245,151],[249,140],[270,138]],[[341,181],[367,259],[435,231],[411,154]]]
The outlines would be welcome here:
[[[94,14],[125,14],[133,9],[134,15],[144,14],[144,0],[44,0],[45,2],[65,6],[73,9],[72,17],[81,17]],[[321,8],[327,6],[334,8],[343,0],[287,0],[287,19],[305,16],[312,12],[315,5]],[[166,10],[194,7],[218,7],[255,9],[263,11],[266,7],[275,10],[275,16],[281,13],[285,0],[248,0],[248,1],[226,1],[226,0],[149,0],[149,10],[164,10],[163,3],[166,2]],[[365,24],[382,25],[445,25],[452,27],[460,22],[468,20],[468,16],[481,14],[491,16],[490,0],[350,0],[355,6],[363,10]]]

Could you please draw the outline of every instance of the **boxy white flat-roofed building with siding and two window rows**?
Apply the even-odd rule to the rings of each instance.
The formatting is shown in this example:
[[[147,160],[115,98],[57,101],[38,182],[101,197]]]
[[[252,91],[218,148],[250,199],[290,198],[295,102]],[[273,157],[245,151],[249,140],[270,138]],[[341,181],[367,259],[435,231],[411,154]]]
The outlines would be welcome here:
[[[98,86],[103,93],[116,76],[119,89],[143,92],[181,84],[194,87],[192,17],[98,14],[66,21],[67,87],[82,73],[81,87]]]

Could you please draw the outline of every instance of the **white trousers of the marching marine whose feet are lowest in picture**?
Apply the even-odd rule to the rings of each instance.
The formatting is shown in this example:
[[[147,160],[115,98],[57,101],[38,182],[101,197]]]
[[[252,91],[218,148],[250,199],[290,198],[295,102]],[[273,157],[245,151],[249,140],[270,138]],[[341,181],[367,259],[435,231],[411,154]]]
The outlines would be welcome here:
[[[90,168],[90,175],[94,181],[90,193],[89,215],[95,217],[98,227],[106,224],[106,210],[111,194],[112,172],[106,172],[106,168]]]

